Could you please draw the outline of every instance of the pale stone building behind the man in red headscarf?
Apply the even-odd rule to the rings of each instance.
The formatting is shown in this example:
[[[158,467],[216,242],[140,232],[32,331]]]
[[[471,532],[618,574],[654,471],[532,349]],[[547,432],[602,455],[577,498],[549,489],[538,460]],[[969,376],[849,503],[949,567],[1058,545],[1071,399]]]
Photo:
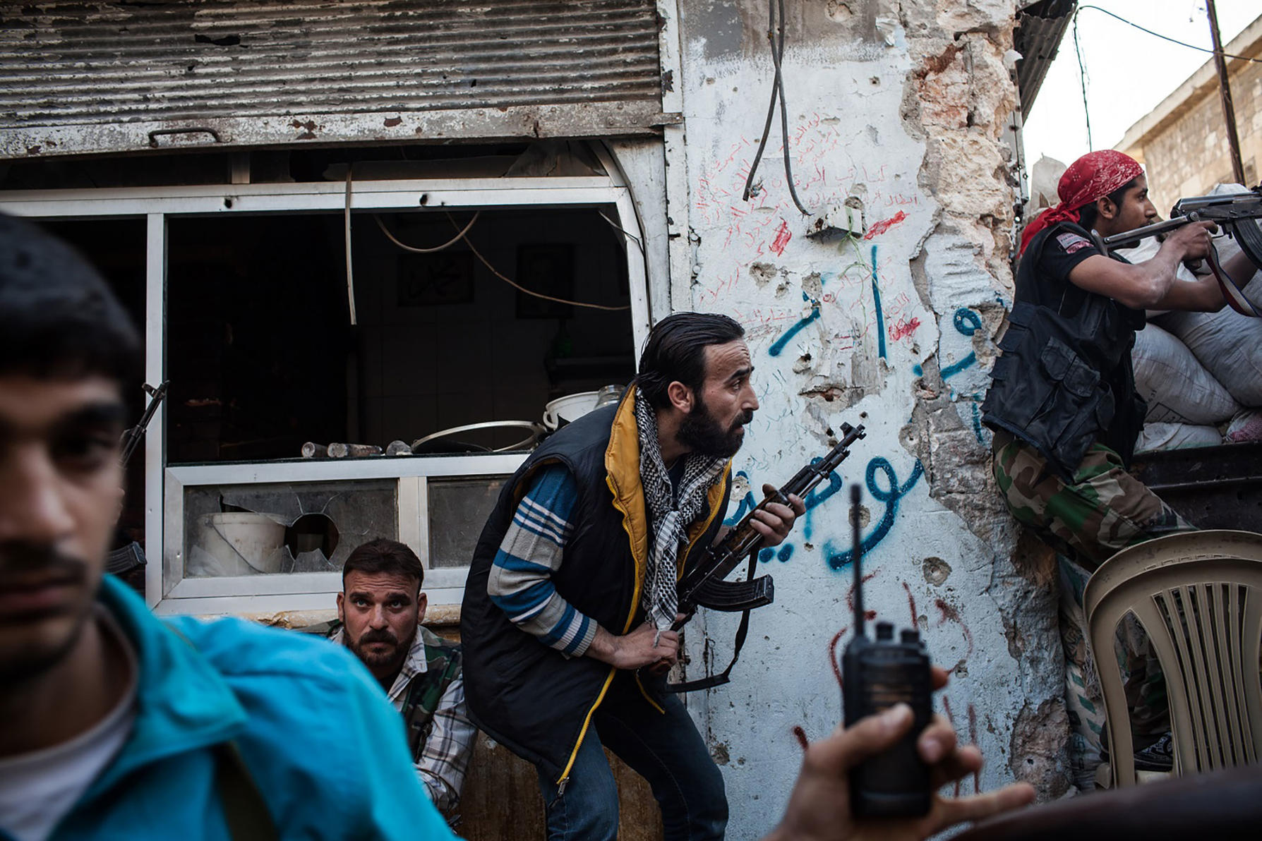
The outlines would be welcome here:
[[[1247,187],[1258,183],[1262,164],[1262,16],[1223,47],[1223,52],[1254,61],[1227,59],[1227,74],[1235,106],[1235,130]],[[1186,195],[1204,195],[1214,184],[1234,182],[1218,71],[1205,62],[1131,126],[1116,146],[1141,164],[1157,212],[1166,216]]]

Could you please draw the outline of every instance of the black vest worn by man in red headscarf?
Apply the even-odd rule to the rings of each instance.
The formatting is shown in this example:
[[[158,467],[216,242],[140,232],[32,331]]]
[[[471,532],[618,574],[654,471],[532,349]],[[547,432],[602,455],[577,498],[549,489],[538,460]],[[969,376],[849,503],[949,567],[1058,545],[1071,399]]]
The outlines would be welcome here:
[[[1039,272],[1047,238],[1065,231],[1090,238],[1075,224],[1055,224],[1021,258],[982,422],[1037,449],[1068,480],[1095,441],[1129,465],[1147,406],[1131,368],[1143,313]]]

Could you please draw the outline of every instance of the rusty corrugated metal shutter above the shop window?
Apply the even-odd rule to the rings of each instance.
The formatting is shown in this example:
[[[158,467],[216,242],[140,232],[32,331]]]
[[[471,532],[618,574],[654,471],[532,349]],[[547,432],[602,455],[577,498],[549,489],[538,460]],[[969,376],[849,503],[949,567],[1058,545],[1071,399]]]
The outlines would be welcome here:
[[[61,0],[0,15],[6,158],[671,121],[654,0]]]

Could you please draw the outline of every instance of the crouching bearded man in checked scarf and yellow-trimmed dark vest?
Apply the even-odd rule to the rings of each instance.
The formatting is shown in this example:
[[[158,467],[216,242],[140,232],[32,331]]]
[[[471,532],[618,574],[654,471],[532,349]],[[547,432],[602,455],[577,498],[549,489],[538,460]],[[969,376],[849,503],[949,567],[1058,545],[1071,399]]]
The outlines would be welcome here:
[[[649,780],[666,838],[723,837],[704,740],[660,670],[637,670],[676,661],[679,572],[723,522],[731,458],[758,409],[743,335],[726,315],[660,322],[622,402],[535,450],[482,531],[461,613],[469,712],[534,763],[549,838],[617,836],[602,745]],[[787,503],[761,506],[764,546],[805,509]]]

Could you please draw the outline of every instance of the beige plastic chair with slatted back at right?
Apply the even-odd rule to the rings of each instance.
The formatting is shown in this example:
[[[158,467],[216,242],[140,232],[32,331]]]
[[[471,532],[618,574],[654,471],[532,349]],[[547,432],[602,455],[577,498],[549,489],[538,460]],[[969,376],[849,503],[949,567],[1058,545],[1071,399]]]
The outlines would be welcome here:
[[[1143,627],[1165,673],[1174,773],[1258,762],[1262,535],[1182,532],[1122,550],[1092,575],[1083,603],[1114,786],[1136,783],[1131,716],[1113,654],[1127,613]]]

